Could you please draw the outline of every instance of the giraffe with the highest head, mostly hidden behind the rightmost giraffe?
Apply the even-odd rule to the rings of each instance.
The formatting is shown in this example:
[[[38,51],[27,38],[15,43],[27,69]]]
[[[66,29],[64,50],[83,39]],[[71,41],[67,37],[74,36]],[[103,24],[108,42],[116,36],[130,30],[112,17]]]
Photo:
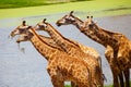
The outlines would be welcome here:
[[[83,30],[85,27],[84,26],[84,22],[81,21],[80,18],[75,17],[73,14],[73,11],[70,12],[70,14],[68,15],[64,15],[62,18],[58,20],[57,21],[57,25],[60,26],[60,25],[68,25],[68,24],[73,24],[74,26],[76,26],[84,35],[86,35],[87,37],[90,37],[91,39],[95,40],[96,42],[103,45],[106,50],[105,50],[105,57],[110,65],[110,69],[111,69],[111,72],[112,72],[112,76],[114,76],[114,87],[119,87],[118,85],[118,77],[120,78],[120,84],[121,86],[123,86],[123,78],[122,78],[122,75],[121,73],[117,73],[117,71],[119,72],[119,67],[118,65],[116,64],[114,60],[114,49],[109,46],[109,45],[106,45],[106,42],[102,41],[100,38],[98,38],[93,32],[92,29],[86,29]],[[105,30],[105,29],[103,29]],[[105,30],[107,32],[107,30]],[[110,33],[110,32],[108,32]],[[116,36],[118,36],[119,34],[116,34]],[[127,74],[127,73],[123,73],[123,74]],[[126,80],[128,80],[129,77],[127,76],[126,77]],[[128,87],[128,85],[127,85]]]

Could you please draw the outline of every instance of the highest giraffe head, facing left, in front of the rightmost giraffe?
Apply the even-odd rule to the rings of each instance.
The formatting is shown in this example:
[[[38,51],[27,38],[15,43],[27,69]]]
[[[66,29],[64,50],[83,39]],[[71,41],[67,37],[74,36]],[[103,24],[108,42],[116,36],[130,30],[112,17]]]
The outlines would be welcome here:
[[[75,17],[75,16],[73,15],[73,11],[71,11],[69,14],[67,14],[67,15],[64,15],[62,18],[58,20],[56,24],[57,24],[58,26],[74,24],[75,21],[76,21],[75,18],[78,18],[78,17]]]

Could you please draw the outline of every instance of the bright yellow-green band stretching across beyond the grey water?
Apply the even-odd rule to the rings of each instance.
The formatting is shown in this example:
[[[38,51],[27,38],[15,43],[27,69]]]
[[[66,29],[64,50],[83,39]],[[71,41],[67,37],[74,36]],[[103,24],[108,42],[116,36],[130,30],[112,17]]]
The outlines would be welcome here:
[[[21,2],[19,2],[17,5],[24,5],[25,3],[29,3],[28,2],[29,0],[19,0],[19,1]],[[39,3],[41,2],[41,0],[32,0],[32,1],[34,2],[33,4],[36,3],[36,5],[38,2]],[[92,1],[68,2],[62,4],[58,3],[58,4],[40,5],[40,7],[0,9],[0,18],[48,15],[55,13],[69,12],[72,10],[86,12],[86,15],[92,14],[95,16],[120,15],[120,14],[131,13],[130,3],[131,0],[92,0]]]

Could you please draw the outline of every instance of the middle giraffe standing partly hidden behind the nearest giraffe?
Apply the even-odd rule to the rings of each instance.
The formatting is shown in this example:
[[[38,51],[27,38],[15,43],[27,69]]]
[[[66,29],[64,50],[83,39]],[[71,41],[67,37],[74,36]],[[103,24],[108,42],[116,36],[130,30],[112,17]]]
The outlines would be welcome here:
[[[46,18],[37,24],[36,29],[39,28],[47,32],[50,37],[56,41],[56,44],[58,44],[62,49],[64,49],[70,57],[81,58],[82,60],[86,61],[86,63],[92,67],[92,82],[94,83],[92,83],[92,87],[103,87],[104,82],[102,77],[102,67],[98,63],[98,60],[94,58],[94,55],[83,52],[79,45],[64,38],[59,32],[57,32],[55,27],[51,26],[51,24],[46,22]]]

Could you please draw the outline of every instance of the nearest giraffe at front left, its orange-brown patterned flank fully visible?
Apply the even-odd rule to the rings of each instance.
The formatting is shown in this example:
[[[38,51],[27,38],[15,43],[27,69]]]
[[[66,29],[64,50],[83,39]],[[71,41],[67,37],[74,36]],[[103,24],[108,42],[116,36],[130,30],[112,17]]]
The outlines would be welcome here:
[[[78,58],[69,57],[66,52],[48,45],[32,26],[25,28],[25,35],[21,35],[16,41],[31,41],[36,50],[48,61],[47,71],[51,78],[53,87],[64,87],[64,80],[71,80],[79,87],[91,86],[90,66]]]

